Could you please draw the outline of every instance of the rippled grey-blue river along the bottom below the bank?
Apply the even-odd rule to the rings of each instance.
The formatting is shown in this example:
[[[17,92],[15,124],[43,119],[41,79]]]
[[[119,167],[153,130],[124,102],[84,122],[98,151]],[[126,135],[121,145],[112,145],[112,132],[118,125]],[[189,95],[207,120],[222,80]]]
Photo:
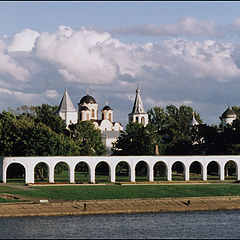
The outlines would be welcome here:
[[[0,218],[0,238],[238,239],[240,210]]]

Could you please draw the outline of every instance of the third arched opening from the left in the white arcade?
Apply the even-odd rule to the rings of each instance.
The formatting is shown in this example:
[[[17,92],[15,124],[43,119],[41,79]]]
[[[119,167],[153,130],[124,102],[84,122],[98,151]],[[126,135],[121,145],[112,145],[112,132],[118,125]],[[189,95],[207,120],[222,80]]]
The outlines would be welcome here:
[[[65,162],[59,162],[54,167],[54,182],[68,183],[69,182],[69,166]]]

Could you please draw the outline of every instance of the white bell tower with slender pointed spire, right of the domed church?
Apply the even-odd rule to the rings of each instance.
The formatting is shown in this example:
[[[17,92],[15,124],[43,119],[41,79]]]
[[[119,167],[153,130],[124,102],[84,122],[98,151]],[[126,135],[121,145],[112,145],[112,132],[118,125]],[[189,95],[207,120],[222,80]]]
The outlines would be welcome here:
[[[137,85],[136,89],[136,97],[133,104],[132,112],[128,114],[129,122],[138,122],[144,125],[144,127],[148,124],[148,114],[144,112],[144,107],[142,103],[142,99],[140,97],[140,89]]]

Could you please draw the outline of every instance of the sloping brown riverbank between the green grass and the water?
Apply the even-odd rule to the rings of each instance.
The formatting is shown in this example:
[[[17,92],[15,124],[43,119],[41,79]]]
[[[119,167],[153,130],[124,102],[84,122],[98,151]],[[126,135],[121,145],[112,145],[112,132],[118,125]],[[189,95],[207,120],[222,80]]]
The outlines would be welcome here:
[[[0,217],[66,216],[240,209],[240,196],[2,203]]]

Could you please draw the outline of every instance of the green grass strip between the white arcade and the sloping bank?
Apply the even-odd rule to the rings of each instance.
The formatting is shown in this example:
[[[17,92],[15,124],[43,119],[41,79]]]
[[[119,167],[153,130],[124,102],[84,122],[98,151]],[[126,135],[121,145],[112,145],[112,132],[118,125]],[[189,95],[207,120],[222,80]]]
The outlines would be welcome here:
[[[238,196],[238,184],[203,185],[92,185],[92,186],[34,186],[39,191],[20,191],[0,187],[1,192],[43,199],[96,200],[124,198],[177,198],[206,196]]]

